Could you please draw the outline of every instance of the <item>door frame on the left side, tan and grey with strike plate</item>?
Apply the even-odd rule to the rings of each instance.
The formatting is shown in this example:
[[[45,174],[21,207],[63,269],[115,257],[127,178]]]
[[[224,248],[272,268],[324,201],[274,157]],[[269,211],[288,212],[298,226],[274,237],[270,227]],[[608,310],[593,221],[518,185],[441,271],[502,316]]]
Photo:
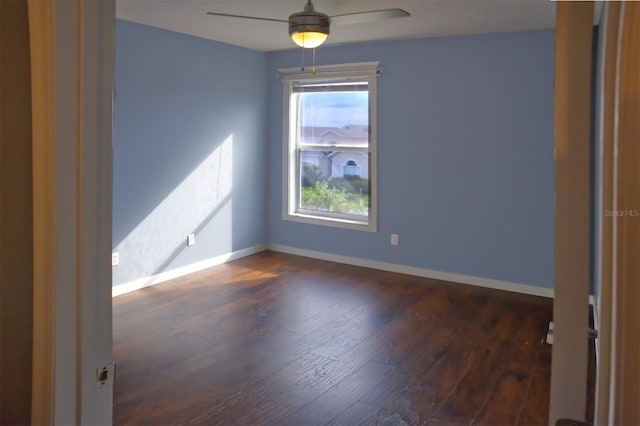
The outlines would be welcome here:
[[[110,424],[115,3],[29,0],[34,424]]]

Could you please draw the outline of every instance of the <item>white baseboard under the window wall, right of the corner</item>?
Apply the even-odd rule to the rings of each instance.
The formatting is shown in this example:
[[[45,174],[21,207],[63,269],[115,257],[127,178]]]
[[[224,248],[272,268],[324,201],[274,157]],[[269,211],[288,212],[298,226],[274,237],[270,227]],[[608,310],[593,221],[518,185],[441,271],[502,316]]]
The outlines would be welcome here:
[[[534,296],[553,298],[553,289],[537,287],[529,284],[512,283],[508,281],[480,278],[470,275],[453,274],[450,272],[435,271],[432,269],[418,268],[415,266],[397,265],[393,263],[378,262],[376,260],[361,259],[357,257],[340,256],[315,250],[299,249],[279,244],[268,244],[267,248],[280,253],[294,254],[297,256],[311,257],[314,259],[328,260],[330,262],[345,263],[348,265],[362,266],[365,268],[379,269],[382,271],[397,272],[400,274],[415,275],[424,278],[433,278],[442,281],[451,281],[460,284],[475,285],[497,290],[512,291],[515,293],[530,294]]]

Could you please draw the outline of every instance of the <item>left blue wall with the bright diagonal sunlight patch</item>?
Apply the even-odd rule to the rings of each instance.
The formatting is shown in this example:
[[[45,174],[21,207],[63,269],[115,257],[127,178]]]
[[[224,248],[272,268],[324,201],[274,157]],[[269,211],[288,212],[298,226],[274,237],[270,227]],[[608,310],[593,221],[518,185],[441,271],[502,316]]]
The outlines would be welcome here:
[[[116,22],[114,285],[266,242],[265,67],[264,53]]]

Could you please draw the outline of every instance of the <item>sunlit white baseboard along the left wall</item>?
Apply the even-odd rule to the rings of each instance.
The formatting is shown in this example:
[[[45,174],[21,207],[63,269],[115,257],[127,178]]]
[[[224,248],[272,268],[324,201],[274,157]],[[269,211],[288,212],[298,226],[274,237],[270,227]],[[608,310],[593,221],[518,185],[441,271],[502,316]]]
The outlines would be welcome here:
[[[240,259],[242,257],[250,256],[267,249],[266,244],[258,244],[253,247],[234,251],[231,253],[222,254],[209,259],[201,260],[200,262],[192,263],[190,265],[182,266],[180,268],[172,269],[170,271],[161,272],[150,277],[141,278],[128,283],[119,284],[113,287],[111,292],[112,297],[120,296],[122,294],[130,293],[141,288],[149,287],[152,285],[160,284],[165,281],[169,281],[175,278],[182,277],[184,275],[193,274],[213,266],[221,265],[232,260]]]

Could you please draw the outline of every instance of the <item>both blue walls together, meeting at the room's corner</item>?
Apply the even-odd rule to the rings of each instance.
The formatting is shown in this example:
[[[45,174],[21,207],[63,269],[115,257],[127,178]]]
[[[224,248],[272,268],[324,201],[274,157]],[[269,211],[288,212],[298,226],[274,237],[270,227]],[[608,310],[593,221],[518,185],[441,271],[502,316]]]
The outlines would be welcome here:
[[[318,50],[382,64],[377,233],[281,219],[277,69],[298,50],[116,34],[114,285],[268,242],[553,286],[552,31]]]

